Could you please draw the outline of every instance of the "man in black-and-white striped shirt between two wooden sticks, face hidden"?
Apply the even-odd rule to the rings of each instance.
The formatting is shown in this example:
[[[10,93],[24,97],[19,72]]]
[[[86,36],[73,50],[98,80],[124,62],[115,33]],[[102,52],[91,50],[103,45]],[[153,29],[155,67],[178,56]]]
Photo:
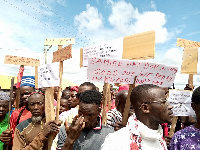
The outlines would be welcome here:
[[[117,93],[116,100],[115,100],[116,108],[111,109],[107,113],[107,125],[108,126],[114,127],[117,122],[122,121],[122,115],[124,112],[127,96],[128,96],[127,90],[122,90]]]

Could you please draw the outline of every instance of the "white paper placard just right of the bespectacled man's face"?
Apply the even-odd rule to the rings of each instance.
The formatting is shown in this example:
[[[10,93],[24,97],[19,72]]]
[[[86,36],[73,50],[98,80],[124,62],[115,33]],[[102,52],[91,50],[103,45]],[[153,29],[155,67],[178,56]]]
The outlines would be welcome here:
[[[174,116],[194,116],[195,112],[191,107],[192,91],[169,90],[168,102],[173,106]]]

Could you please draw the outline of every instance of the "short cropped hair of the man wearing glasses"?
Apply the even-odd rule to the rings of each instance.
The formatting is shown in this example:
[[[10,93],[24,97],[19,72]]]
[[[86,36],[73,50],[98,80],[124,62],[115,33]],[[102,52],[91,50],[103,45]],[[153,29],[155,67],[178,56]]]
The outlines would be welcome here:
[[[142,84],[142,85],[136,86],[132,90],[130,101],[134,109],[138,108],[139,102],[145,102],[146,97],[148,96],[149,90],[153,88],[160,88],[160,87],[153,84]]]

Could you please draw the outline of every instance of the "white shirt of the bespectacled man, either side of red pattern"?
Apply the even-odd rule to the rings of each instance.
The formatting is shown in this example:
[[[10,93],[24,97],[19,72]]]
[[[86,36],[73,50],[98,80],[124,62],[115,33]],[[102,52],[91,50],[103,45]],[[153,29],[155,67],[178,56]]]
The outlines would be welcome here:
[[[162,128],[158,127],[158,130],[152,130],[138,121],[138,130],[142,138],[142,150],[163,150],[160,143],[162,140]],[[129,127],[126,126],[115,133],[110,133],[106,137],[101,150],[130,150],[130,133]],[[166,143],[163,142],[165,149],[167,150]]]

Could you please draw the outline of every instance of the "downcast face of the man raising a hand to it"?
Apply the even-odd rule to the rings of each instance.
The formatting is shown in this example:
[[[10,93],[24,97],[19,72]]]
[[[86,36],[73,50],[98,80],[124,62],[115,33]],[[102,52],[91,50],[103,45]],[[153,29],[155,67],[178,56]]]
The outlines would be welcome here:
[[[101,112],[101,108],[96,104],[79,104],[79,116],[83,115],[85,122],[85,129],[93,129],[97,125],[97,117]]]

